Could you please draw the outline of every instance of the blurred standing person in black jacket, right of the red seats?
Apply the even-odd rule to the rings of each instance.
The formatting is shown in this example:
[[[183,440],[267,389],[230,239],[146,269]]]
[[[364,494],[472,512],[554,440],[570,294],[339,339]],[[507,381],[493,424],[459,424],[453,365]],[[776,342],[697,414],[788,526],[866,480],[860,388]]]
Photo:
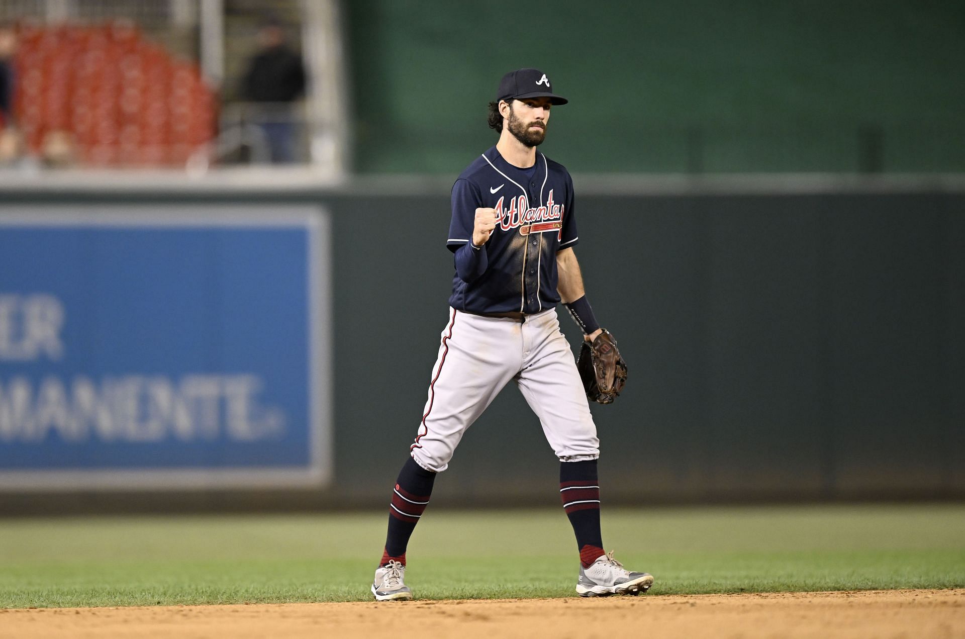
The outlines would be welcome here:
[[[305,91],[305,67],[301,56],[285,42],[285,29],[276,19],[262,23],[258,32],[261,50],[248,63],[241,94],[258,102],[257,122],[275,163],[294,161],[295,118],[292,102]]]

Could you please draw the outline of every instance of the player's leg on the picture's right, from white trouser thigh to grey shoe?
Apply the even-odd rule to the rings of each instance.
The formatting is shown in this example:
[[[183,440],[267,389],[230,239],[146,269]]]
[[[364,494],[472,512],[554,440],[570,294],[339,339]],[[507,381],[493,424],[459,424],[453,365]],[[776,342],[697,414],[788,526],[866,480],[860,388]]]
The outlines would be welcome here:
[[[580,550],[583,597],[646,592],[653,577],[623,569],[603,551],[596,472],[599,440],[569,343],[555,311],[523,323],[524,366],[516,382],[560,458],[560,497]]]

